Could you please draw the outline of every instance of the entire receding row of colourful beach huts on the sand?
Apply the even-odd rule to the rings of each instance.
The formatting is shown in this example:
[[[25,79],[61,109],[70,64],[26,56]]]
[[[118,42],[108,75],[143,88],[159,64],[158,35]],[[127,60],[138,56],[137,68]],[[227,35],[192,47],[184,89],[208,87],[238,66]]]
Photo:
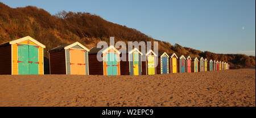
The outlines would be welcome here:
[[[30,36],[0,44],[0,74],[44,74],[43,50],[45,45]],[[101,59],[97,53],[102,51]],[[137,48],[126,54],[128,61],[122,61],[121,52],[112,45],[107,49],[88,49],[76,42],[60,45],[48,51],[50,74],[77,75],[154,75],[167,73],[196,73],[229,69],[226,62],[177,56],[175,53],[152,50],[146,54]],[[146,61],[142,61],[142,59]],[[157,66],[156,66],[157,64]]]

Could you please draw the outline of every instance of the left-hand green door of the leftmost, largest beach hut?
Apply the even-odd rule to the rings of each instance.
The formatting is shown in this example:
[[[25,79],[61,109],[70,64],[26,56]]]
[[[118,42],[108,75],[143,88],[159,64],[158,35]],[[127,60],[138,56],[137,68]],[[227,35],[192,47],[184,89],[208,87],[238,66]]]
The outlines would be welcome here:
[[[28,45],[18,44],[18,74],[30,74],[28,56]]]

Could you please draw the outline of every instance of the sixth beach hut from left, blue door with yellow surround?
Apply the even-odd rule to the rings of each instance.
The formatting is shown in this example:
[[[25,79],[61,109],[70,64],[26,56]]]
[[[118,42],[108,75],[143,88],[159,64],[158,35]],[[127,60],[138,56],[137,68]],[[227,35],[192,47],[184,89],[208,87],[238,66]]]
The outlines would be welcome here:
[[[158,66],[156,67],[156,74],[169,73],[169,56],[166,52],[158,54]]]

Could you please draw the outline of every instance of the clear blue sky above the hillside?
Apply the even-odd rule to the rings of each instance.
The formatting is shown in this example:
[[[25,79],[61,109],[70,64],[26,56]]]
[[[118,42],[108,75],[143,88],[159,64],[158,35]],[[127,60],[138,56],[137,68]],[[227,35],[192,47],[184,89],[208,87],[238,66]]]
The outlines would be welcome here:
[[[213,53],[255,56],[255,0],[0,0],[16,7],[90,12],[154,39]]]

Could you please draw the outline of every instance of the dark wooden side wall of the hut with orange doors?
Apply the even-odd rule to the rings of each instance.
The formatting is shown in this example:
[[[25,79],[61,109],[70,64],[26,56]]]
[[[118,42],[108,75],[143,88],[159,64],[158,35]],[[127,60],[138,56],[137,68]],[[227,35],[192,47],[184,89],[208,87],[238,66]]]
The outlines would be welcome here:
[[[65,50],[49,53],[50,74],[66,74]]]

